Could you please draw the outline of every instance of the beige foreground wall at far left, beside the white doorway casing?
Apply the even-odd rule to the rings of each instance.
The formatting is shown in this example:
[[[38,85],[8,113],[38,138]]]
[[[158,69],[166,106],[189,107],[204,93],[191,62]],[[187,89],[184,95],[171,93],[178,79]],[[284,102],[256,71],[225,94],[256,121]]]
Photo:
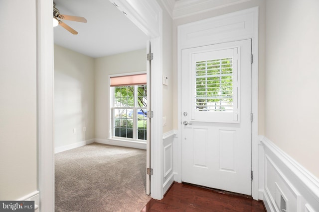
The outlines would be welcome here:
[[[17,200],[37,190],[35,0],[1,0],[0,34],[0,200]]]

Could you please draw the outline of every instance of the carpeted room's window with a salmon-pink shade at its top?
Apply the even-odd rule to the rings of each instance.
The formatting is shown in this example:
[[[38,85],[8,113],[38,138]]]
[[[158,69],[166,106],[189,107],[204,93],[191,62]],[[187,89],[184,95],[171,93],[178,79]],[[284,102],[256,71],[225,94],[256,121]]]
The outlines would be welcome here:
[[[110,77],[112,90],[112,138],[147,140],[147,76]]]

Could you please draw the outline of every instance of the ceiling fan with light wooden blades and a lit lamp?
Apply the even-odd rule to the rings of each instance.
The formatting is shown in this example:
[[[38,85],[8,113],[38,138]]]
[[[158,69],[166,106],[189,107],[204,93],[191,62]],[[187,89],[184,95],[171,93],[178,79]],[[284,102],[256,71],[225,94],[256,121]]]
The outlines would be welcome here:
[[[55,3],[53,2],[53,26],[60,25],[64,29],[68,30],[71,32],[73,35],[77,35],[78,32],[72,29],[69,25],[66,23],[62,22],[62,20],[70,20],[70,21],[77,21],[77,22],[82,22],[86,23],[87,20],[84,17],[79,17],[79,16],[73,16],[73,15],[63,15],[60,14],[60,11],[55,7]]]

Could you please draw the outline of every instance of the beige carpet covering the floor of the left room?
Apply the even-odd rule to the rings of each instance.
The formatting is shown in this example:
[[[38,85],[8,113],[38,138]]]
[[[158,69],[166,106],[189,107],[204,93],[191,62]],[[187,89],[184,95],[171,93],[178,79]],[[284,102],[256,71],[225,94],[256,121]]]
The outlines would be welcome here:
[[[146,151],[92,143],[55,154],[55,212],[140,212]]]

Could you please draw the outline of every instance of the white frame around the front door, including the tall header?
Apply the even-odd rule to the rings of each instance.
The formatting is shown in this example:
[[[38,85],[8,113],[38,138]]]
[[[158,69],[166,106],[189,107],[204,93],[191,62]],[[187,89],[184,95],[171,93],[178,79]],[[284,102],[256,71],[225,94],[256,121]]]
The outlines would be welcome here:
[[[252,197],[258,200],[258,26],[259,7],[240,10],[177,26],[177,142],[175,176],[181,182],[181,50],[252,39]]]

